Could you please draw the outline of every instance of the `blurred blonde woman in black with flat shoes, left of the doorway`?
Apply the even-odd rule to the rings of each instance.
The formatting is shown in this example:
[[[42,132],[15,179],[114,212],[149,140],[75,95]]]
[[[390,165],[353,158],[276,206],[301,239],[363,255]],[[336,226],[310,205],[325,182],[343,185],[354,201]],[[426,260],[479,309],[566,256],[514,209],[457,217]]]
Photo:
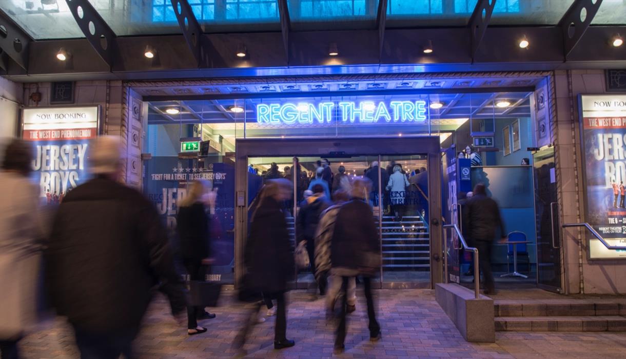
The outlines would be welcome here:
[[[211,215],[215,213],[217,191],[211,190],[210,186],[205,180],[193,181],[188,186],[187,196],[178,203],[176,222],[180,250],[189,280],[193,281],[204,281],[212,262],[207,210]],[[203,306],[187,306],[188,335],[207,331],[207,328],[198,326],[198,320],[212,318],[215,314],[208,313]]]

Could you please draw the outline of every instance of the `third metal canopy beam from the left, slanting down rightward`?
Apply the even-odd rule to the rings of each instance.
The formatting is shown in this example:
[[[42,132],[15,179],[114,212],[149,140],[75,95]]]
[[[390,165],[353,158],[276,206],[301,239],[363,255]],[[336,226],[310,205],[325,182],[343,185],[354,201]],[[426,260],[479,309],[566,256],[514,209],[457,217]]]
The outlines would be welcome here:
[[[223,66],[223,59],[218,54],[213,44],[204,36],[204,31],[198,23],[191,5],[187,0],[170,0],[174,8],[174,14],[178,20],[178,26],[183,31],[183,36],[193,58],[196,59],[198,68],[215,68]]]

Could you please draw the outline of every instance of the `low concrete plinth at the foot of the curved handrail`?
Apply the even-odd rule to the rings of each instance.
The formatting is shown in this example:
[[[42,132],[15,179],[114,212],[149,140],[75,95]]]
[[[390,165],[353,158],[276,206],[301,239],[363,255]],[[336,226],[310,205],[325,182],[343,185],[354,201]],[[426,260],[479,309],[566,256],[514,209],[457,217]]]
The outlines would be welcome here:
[[[438,283],[435,297],[466,341],[496,341],[491,298],[481,295],[476,299],[473,291],[456,283]]]

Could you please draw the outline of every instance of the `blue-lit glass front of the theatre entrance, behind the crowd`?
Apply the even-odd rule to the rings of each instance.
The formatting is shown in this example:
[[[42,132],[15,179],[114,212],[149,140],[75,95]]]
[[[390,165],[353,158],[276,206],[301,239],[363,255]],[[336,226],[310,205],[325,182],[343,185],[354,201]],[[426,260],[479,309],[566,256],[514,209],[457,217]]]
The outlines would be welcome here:
[[[513,203],[503,207],[506,226],[521,228],[523,223],[534,221],[532,196],[526,191],[533,188],[531,178],[526,178],[531,173],[530,168],[521,167],[525,172],[520,176],[511,172],[515,167],[501,167],[518,166],[522,158],[532,157],[526,150],[534,141],[531,93],[376,94],[380,91],[372,89],[371,94],[362,96],[317,96],[316,86],[324,85],[312,86],[307,93],[309,96],[279,95],[275,89],[272,91],[272,85],[264,85],[258,90],[267,91],[267,95],[255,93],[239,99],[207,98],[148,104],[144,151],[152,158],[143,161],[143,188],[160,208],[173,237],[176,202],[185,196],[188,183],[202,179],[218,188],[218,205],[212,217],[213,228],[217,229],[212,246],[213,253],[220,258],[212,267],[212,278],[222,283],[234,281],[237,260],[234,255],[235,148],[237,141],[244,138],[376,138],[384,141],[384,138],[403,136],[438,136],[442,148],[457,144],[463,149],[476,133],[491,134],[495,139],[494,148],[498,150],[481,150],[483,165],[488,166],[481,169],[481,173],[493,172],[497,180],[490,188],[503,196],[498,200]],[[233,91],[243,87],[233,86]],[[510,136],[508,153],[503,149],[503,133]],[[183,141],[201,141],[202,148],[185,153],[181,148]],[[304,190],[308,189],[307,181],[314,176],[320,160],[310,156],[313,150],[317,149],[294,148],[293,156],[247,159],[248,204],[269,178],[269,173],[296,181],[294,206],[285,212],[289,213],[287,219],[294,245],[297,213],[304,200]],[[379,185],[372,190],[369,200],[375,215],[381,218],[381,283],[413,283],[424,287],[431,280],[428,157],[421,154],[418,147],[408,151],[412,153],[409,156],[337,155],[330,159],[329,167],[334,174],[339,173],[341,166],[348,176],[366,176],[372,163],[379,162],[382,182],[377,182]],[[408,180],[408,187],[394,188],[391,176],[396,165],[399,165],[401,177]],[[299,170],[295,180],[294,168]],[[473,173],[477,173],[476,170],[478,168]],[[530,185],[521,193],[519,188],[515,189],[518,182],[504,180],[508,176],[523,178]],[[329,185],[330,191],[332,186]],[[510,196],[506,195],[507,191]],[[515,201],[515,196],[522,196],[525,201]],[[526,203],[529,198],[530,204]],[[528,218],[517,213],[522,203],[521,211]],[[528,235],[528,239],[535,241],[535,234]],[[534,256],[532,261],[535,261]],[[500,253],[495,263],[506,263],[506,252]],[[295,286],[299,288],[314,282],[310,270],[300,270],[295,278]]]

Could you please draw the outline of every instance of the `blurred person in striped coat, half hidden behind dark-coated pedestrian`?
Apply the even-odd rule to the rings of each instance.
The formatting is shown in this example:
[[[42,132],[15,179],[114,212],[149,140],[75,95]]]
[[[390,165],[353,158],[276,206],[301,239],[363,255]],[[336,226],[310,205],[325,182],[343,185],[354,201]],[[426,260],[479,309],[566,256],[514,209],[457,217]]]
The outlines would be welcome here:
[[[327,276],[331,271],[331,241],[335,229],[337,213],[341,206],[349,200],[347,191],[336,191],[332,195],[334,205],[324,211],[319,220],[315,243],[316,279],[318,276]],[[319,281],[319,280],[318,280]],[[341,276],[331,275],[328,278],[328,290],[326,293],[326,312],[330,317],[334,313],[335,302],[341,291]],[[356,279],[351,277],[347,286],[347,312],[356,310]]]

